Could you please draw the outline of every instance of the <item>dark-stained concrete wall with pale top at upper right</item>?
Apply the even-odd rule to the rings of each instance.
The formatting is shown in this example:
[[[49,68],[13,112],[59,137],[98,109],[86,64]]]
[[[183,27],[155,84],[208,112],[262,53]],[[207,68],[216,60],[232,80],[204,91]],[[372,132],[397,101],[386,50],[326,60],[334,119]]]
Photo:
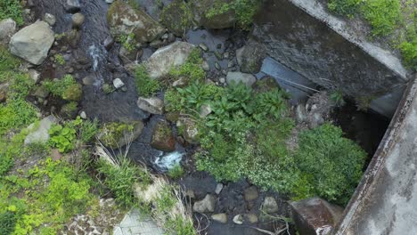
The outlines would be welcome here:
[[[372,103],[388,117],[401,97],[397,87],[408,81],[408,71],[393,53],[349,30],[319,0],[266,0],[251,36],[274,60],[359,103],[393,96],[392,103]]]

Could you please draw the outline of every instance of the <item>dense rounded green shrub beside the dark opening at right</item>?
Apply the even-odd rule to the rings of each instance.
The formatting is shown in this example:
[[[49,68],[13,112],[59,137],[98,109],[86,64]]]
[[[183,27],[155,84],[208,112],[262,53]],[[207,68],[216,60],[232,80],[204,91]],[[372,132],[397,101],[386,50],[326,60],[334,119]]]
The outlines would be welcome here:
[[[362,177],[366,153],[342,135],[330,124],[301,133],[296,160],[316,195],[345,205]]]

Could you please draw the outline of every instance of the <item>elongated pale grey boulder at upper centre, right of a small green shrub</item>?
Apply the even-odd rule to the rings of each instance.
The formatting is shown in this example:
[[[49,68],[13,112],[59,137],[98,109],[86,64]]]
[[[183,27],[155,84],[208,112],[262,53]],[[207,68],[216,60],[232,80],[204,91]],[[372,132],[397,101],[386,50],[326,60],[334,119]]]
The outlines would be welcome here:
[[[149,76],[155,79],[168,76],[172,67],[181,66],[187,61],[194,47],[189,43],[176,42],[159,48],[145,63]]]

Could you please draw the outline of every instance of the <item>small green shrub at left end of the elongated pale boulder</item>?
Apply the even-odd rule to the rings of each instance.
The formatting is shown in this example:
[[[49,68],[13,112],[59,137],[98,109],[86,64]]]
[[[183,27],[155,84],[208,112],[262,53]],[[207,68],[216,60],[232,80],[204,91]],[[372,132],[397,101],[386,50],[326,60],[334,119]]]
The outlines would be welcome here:
[[[137,92],[144,97],[149,97],[160,89],[159,81],[149,77],[143,65],[139,65],[135,69],[135,83]]]

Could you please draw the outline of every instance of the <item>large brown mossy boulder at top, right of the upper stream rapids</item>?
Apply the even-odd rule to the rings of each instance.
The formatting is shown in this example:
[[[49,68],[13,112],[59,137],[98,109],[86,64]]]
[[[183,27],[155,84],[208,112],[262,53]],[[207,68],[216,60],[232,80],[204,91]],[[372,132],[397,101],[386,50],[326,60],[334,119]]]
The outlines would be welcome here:
[[[107,12],[107,21],[113,36],[134,34],[139,43],[151,42],[165,32],[165,28],[146,12],[135,9],[124,1],[111,4]]]

